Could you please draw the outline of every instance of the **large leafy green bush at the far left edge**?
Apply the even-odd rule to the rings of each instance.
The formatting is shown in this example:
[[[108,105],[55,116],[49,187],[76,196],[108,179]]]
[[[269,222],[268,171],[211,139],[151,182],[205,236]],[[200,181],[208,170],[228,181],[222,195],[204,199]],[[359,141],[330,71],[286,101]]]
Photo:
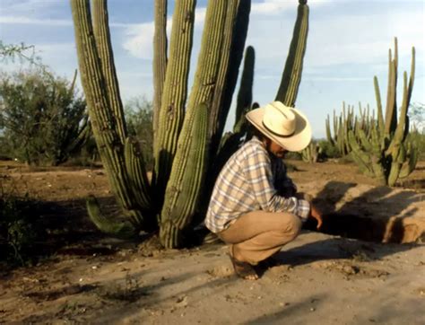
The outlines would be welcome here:
[[[81,145],[88,120],[74,82],[43,68],[0,75],[0,128],[5,152],[29,164],[57,165]]]

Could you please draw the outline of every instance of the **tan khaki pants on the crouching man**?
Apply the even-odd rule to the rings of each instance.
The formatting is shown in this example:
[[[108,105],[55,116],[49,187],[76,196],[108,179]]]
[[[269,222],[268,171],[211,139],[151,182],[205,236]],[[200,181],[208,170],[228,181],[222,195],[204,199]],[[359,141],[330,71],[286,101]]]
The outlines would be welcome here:
[[[217,234],[230,245],[235,259],[256,265],[293,241],[301,226],[297,215],[253,211],[240,215],[228,229]]]

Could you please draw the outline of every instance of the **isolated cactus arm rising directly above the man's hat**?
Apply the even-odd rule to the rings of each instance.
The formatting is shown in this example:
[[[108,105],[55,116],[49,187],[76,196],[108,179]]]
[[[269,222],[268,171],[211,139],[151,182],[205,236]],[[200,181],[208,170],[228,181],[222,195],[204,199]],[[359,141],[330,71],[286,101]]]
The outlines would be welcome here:
[[[307,35],[308,5],[307,1],[300,0],[290,52],[283,70],[281,85],[276,94],[276,101],[282,101],[287,106],[293,107],[297,99],[299,83],[301,82],[302,63],[307,47]]]

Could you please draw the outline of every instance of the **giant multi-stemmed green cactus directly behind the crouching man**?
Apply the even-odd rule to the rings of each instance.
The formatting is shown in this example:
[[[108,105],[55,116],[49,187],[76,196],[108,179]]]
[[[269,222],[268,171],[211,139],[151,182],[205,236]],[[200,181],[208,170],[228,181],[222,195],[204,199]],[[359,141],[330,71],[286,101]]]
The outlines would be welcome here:
[[[175,3],[169,57],[165,33],[167,1],[156,0],[153,62],[155,166],[151,184],[145,171],[143,148],[126,135],[106,0],[91,1],[93,20],[89,0],[70,1],[82,86],[93,134],[111,188],[130,223],[102,215],[94,198],[87,202],[91,219],[103,232],[118,236],[159,227],[160,241],[165,247],[181,246],[185,243],[186,232],[191,229],[194,215],[202,211],[200,202],[204,200],[200,198],[204,188],[211,188],[211,184],[204,186],[205,175],[213,170],[212,162],[218,157],[217,147],[245,47],[250,0],[209,0],[195,81],[189,96],[187,78],[195,0]],[[291,77],[287,87],[291,101],[295,101],[298,90],[307,37],[308,7],[305,1],[300,1],[299,5],[291,59],[287,61],[292,72],[288,70],[284,77]],[[248,61],[251,52],[254,53],[253,48],[247,51]],[[251,57],[249,66],[253,70],[254,56]],[[252,86],[252,76],[252,71],[249,74],[244,72],[241,89],[249,88],[245,84]],[[239,123],[235,127],[235,132],[242,136],[246,132],[243,115],[250,106],[252,91],[243,93],[245,100],[239,99]],[[229,150],[234,151],[236,147]],[[212,183],[214,180],[208,178],[207,181]]]

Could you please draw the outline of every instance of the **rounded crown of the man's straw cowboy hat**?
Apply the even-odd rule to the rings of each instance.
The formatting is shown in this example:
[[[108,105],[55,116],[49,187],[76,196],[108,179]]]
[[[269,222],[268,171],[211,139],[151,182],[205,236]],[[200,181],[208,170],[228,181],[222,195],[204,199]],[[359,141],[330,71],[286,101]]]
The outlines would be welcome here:
[[[278,136],[291,136],[295,132],[296,117],[291,108],[281,101],[273,101],[265,106],[263,124]]]

